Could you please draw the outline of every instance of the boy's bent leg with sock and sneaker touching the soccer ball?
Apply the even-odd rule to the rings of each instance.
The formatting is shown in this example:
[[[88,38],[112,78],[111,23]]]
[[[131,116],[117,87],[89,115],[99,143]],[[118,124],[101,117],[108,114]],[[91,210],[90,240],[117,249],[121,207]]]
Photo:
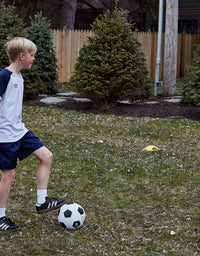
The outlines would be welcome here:
[[[66,201],[64,199],[58,200],[47,197],[47,186],[53,154],[45,147],[41,147],[33,152],[39,161],[37,171],[37,204],[36,210],[38,213],[45,213],[61,207]]]

